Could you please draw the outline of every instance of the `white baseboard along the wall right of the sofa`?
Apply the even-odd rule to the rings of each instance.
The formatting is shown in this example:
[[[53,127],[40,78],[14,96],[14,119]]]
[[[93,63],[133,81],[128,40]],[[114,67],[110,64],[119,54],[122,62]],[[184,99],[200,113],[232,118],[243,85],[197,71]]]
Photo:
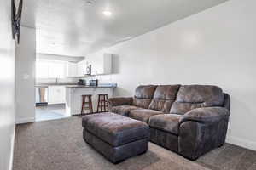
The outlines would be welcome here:
[[[256,142],[251,140],[240,139],[237,137],[230,136],[230,137],[227,137],[226,142],[241,146],[243,148],[247,148],[249,150],[256,150]]]

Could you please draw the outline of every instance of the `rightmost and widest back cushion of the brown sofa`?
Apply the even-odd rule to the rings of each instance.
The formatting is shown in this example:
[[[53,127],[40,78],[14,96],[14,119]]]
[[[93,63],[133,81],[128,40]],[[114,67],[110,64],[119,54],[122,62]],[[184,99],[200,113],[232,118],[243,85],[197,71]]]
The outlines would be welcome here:
[[[209,85],[181,86],[177,99],[172,104],[171,113],[183,115],[195,108],[223,106],[224,94],[221,88]]]

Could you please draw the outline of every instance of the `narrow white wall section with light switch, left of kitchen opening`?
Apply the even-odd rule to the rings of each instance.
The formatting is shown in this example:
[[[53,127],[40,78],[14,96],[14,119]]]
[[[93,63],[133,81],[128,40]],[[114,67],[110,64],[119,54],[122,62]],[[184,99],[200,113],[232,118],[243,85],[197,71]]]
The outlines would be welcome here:
[[[36,31],[21,27],[15,53],[16,123],[35,120]]]

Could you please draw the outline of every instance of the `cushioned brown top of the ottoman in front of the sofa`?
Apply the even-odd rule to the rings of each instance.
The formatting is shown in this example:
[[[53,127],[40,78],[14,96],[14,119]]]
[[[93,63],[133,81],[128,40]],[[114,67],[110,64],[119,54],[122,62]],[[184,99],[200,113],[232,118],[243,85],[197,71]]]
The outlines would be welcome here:
[[[149,138],[146,123],[114,113],[99,113],[84,116],[84,129],[113,147]]]

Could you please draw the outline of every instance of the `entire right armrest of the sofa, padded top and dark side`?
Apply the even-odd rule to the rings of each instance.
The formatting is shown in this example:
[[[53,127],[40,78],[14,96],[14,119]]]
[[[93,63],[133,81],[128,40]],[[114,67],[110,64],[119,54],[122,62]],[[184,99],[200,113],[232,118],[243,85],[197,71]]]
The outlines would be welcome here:
[[[181,119],[178,152],[190,160],[224,144],[230,111],[224,107],[205,107],[187,112]]]

